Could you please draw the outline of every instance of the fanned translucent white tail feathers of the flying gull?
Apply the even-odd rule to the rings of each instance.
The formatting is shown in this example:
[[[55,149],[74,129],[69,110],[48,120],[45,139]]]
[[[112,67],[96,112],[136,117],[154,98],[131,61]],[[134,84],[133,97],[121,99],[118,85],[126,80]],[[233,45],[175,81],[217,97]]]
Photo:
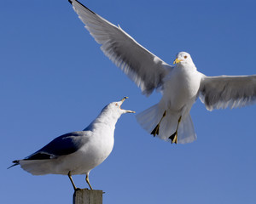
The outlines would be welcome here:
[[[159,104],[153,105],[136,116],[137,122],[148,133],[152,133],[154,128],[160,122],[165,111],[166,110]],[[179,116],[180,115],[178,112],[167,110],[166,116],[164,116],[164,118],[160,122],[159,134],[157,135],[157,137],[172,142],[169,137],[176,131]],[[191,120],[191,116],[184,116],[177,130],[177,143],[190,143],[195,141],[195,139],[195,129]]]

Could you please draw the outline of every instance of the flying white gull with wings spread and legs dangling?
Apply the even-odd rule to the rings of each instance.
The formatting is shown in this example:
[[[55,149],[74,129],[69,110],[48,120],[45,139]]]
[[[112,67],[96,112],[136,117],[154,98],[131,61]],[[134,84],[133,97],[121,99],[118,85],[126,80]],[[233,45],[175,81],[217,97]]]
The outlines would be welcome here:
[[[199,97],[208,111],[236,108],[256,102],[256,75],[207,77],[196,70],[190,54],[180,52],[174,65],[168,65],[143,48],[120,26],[86,8],[76,0],[68,0],[79,14],[101,49],[147,96],[160,90],[157,105],[137,115],[137,122],[160,139],[172,143],[189,143],[196,139],[189,111]]]

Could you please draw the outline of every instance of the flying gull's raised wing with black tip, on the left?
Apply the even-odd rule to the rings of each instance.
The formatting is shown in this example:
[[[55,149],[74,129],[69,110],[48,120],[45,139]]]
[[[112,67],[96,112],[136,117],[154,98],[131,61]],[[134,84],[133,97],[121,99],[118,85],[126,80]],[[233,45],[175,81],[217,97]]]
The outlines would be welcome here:
[[[114,26],[78,1],[68,1],[90,35],[102,44],[103,53],[142,89],[143,94],[149,95],[154,88],[161,87],[163,78],[172,70],[171,65],[143,48],[119,26]]]

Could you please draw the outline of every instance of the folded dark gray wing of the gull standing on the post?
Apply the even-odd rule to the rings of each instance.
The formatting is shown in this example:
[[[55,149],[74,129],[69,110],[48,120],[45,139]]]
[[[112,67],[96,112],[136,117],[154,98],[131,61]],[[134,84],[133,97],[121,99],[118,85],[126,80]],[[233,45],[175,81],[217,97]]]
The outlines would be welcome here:
[[[87,142],[86,131],[63,134],[55,138],[42,149],[36,151],[25,160],[54,159],[58,156],[72,154]]]

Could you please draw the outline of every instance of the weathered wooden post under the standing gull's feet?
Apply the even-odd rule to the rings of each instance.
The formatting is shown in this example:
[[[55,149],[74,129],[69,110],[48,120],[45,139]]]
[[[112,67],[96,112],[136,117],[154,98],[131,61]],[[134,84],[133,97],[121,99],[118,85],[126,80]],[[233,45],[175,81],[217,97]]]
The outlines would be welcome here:
[[[76,190],[73,193],[73,204],[102,204],[102,190]]]

